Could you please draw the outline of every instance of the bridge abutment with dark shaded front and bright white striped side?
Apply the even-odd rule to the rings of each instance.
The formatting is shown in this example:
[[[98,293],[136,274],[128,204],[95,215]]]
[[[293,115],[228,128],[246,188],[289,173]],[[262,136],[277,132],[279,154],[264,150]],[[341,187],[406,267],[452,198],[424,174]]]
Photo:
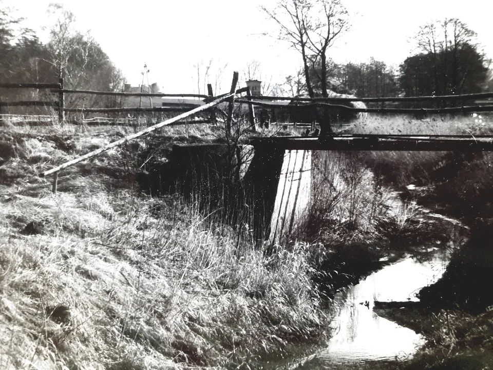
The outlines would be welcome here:
[[[311,188],[311,152],[275,145],[175,145],[179,187],[199,192],[207,212],[252,230],[257,242],[279,243],[305,219]],[[233,160],[233,162],[232,162]],[[195,194],[196,196],[197,194]]]

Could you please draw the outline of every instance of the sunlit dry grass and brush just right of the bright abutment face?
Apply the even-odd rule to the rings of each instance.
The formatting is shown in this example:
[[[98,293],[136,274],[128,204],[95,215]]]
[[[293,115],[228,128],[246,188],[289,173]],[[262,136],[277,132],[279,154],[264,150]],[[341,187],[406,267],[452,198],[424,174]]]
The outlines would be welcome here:
[[[301,230],[326,247],[350,243],[385,244],[407,232],[422,215],[412,200],[402,200],[356,152],[314,152],[309,217]],[[419,232],[419,230],[415,230]]]

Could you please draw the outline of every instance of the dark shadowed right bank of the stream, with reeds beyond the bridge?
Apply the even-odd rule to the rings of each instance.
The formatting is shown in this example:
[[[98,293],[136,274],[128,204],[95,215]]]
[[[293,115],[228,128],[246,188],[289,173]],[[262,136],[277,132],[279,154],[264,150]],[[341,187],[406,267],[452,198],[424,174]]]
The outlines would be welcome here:
[[[412,121],[369,120],[353,127],[358,133],[491,134],[490,117]],[[390,132],[389,132],[390,130]],[[387,316],[422,332],[427,345],[408,368],[483,369],[493,365],[493,321],[485,309],[493,304],[491,199],[493,156],[490,153],[372,152],[365,158],[375,173],[408,196],[470,227],[469,241],[452,257],[443,278],[420,292],[433,309],[392,309]]]

